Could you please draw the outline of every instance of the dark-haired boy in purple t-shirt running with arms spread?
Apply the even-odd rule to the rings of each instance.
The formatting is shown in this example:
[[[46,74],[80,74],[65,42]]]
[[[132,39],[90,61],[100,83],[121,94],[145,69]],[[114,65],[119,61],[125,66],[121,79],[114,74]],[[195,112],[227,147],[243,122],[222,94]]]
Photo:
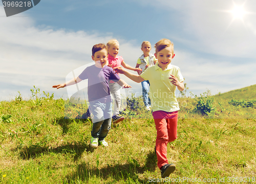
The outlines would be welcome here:
[[[92,59],[95,61],[95,64],[87,67],[78,77],[52,87],[58,89],[88,79],[88,101],[90,103],[90,114],[92,115],[93,122],[90,146],[97,148],[98,144],[109,146],[104,140],[111,129],[112,120],[112,100],[109,90],[109,80],[116,80],[117,84],[123,86],[123,88],[129,88],[131,86],[120,79],[113,71],[113,68],[106,65],[108,64],[108,52],[105,44],[99,43],[93,46]]]

